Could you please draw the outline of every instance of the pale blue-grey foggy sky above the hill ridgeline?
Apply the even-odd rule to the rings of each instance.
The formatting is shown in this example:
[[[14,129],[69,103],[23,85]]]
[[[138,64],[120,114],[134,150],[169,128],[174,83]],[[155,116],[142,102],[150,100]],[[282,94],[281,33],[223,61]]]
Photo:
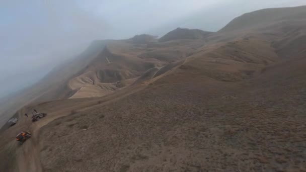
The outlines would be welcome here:
[[[0,97],[30,86],[96,39],[162,36],[177,27],[217,31],[237,16],[304,0],[2,0]]]

